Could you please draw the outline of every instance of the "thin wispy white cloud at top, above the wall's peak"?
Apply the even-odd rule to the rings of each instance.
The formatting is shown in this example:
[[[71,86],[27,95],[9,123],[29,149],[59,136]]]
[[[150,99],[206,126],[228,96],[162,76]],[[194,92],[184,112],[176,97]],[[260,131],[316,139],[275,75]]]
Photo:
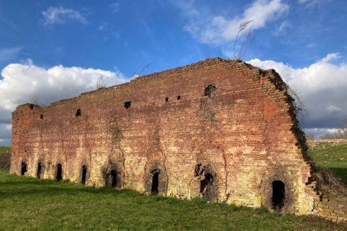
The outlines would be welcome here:
[[[246,8],[241,16],[212,16],[208,20],[194,8],[194,1],[185,1],[177,4],[190,18],[184,27],[200,42],[207,44],[222,44],[234,40],[240,23],[252,20],[249,29],[263,28],[266,23],[283,15],[289,10],[288,4],[281,0],[256,0]]]

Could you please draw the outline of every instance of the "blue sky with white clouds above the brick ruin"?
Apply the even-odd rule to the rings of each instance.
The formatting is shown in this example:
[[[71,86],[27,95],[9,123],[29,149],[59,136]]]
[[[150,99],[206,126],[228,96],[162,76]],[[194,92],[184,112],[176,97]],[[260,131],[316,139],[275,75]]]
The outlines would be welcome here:
[[[346,12],[345,0],[0,0],[0,146],[11,141],[11,111],[33,97],[73,97],[101,74],[113,85],[147,64],[142,74],[232,59],[245,20],[254,40],[242,59],[302,94],[307,132],[336,131],[347,117]]]

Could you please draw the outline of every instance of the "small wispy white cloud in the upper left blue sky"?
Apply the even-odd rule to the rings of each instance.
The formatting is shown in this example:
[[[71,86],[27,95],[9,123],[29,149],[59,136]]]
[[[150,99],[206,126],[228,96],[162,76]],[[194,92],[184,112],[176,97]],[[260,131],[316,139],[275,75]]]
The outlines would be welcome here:
[[[45,25],[64,24],[67,20],[77,20],[80,23],[86,24],[88,21],[79,11],[74,11],[70,8],[48,7],[47,11],[42,11],[43,22]]]

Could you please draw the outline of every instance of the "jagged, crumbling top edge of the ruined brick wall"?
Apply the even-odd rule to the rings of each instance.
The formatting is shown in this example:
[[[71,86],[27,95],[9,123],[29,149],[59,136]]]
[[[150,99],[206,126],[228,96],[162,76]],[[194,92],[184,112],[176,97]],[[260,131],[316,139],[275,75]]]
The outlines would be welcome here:
[[[182,72],[182,71],[185,71],[186,69],[190,70],[192,67],[200,68],[200,67],[203,66],[203,64],[209,63],[209,62],[212,62],[212,61],[218,61],[220,63],[224,62],[224,63],[231,64],[231,65],[233,65],[233,64],[242,64],[242,65],[247,66],[249,69],[257,69],[259,77],[261,75],[266,74],[266,73],[273,73],[273,75],[266,75],[266,76],[271,78],[271,80],[272,80],[271,82],[275,85],[276,89],[284,90],[283,87],[282,87],[282,85],[285,85],[284,81],[282,80],[282,78],[280,78],[280,75],[278,73],[276,73],[275,70],[273,70],[273,69],[268,69],[268,70],[265,71],[263,69],[260,69],[260,68],[258,68],[256,66],[251,65],[251,64],[247,64],[244,61],[241,61],[241,60],[238,60],[238,59],[237,60],[235,60],[235,59],[223,59],[223,58],[216,57],[214,59],[205,59],[203,61],[198,61],[197,63],[176,67],[174,69],[168,69],[168,70],[165,70],[165,71],[156,72],[156,73],[152,73],[152,74],[145,75],[145,76],[138,76],[138,77],[128,81],[127,83],[121,83],[121,84],[118,84],[118,85],[113,85],[113,86],[110,86],[108,88],[101,88],[101,89],[91,90],[91,91],[88,91],[88,92],[85,92],[85,93],[81,93],[79,96],[76,96],[76,97],[66,98],[66,99],[63,99],[63,100],[56,101],[56,102],[51,102],[50,105],[47,105],[47,106],[44,106],[44,107],[40,107],[38,105],[34,105],[34,106],[35,107],[40,107],[40,108],[48,108],[48,107],[56,105],[57,103],[62,103],[64,101],[78,100],[79,97],[83,97],[84,95],[89,95],[91,93],[104,93],[104,92],[107,92],[110,89],[117,89],[117,88],[120,89],[120,88],[124,88],[124,87],[126,87],[128,85],[139,83],[140,81],[148,81],[148,80],[154,79],[154,78],[161,78],[164,75],[169,75],[170,73]],[[273,76],[275,76],[275,78],[273,78]],[[280,84],[278,84],[278,83],[280,83]],[[32,105],[32,104],[25,103],[23,105],[18,105],[18,107],[22,107],[24,105]]]

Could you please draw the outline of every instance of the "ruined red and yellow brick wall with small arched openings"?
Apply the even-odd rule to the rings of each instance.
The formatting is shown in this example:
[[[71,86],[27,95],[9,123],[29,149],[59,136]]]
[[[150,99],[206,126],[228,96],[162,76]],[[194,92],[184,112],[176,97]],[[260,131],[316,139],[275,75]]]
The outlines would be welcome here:
[[[282,182],[283,210],[312,213],[305,140],[283,86],[273,70],[216,58],[21,105],[11,172],[36,177],[40,163],[40,177],[55,179],[61,165],[62,179],[89,186],[268,208]]]

